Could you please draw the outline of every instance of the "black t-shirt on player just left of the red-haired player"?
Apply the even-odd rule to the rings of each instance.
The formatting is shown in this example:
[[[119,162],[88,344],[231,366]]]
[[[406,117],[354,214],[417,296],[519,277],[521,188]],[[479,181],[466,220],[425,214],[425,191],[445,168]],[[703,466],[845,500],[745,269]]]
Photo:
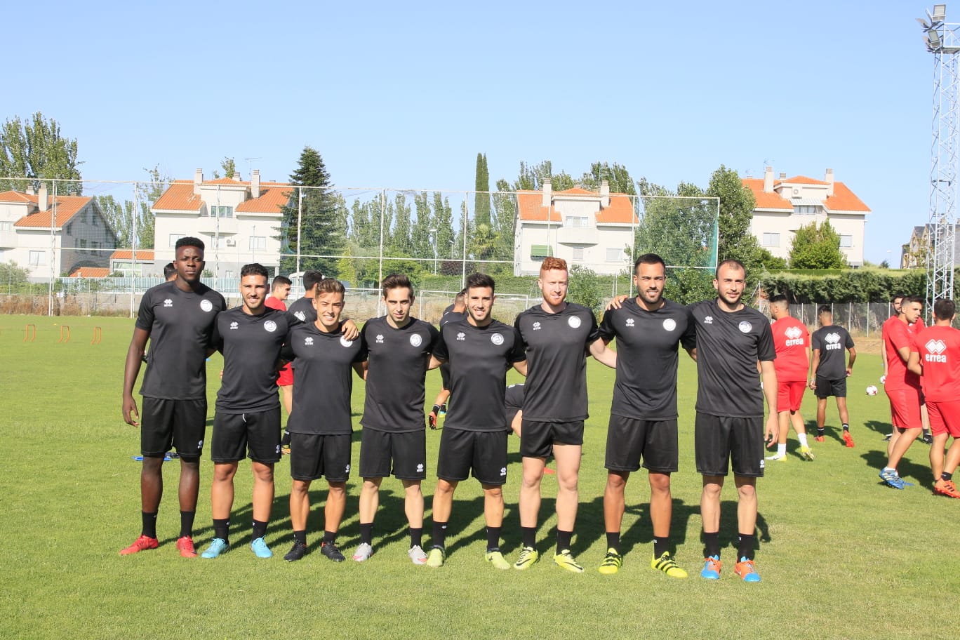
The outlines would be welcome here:
[[[448,322],[440,329],[433,354],[450,364],[454,402],[444,428],[503,431],[507,369],[526,359],[514,327],[498,320],[483,327],[468,320]]]

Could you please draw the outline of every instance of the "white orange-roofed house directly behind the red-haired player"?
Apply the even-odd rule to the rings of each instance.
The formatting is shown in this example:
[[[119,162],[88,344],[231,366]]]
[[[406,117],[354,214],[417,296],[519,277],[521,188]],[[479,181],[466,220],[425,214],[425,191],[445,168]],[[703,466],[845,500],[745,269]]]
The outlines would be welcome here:
[[[547,179],[541,191],[517,192],[516,205],[516,275],[540,273],[548,255],[596,273],[630,270],[629,248],[638,222],[634,203],[624,194],[611,194],[607,180],[595,192],[580,187],[553,191]]]

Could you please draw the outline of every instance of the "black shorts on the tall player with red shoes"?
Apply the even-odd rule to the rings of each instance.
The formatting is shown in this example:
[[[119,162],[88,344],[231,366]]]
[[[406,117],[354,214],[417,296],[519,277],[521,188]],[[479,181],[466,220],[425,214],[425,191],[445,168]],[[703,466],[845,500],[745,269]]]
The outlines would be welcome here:
[[[143,396],[140,415],[140,454],[163,458],[176,447],[187,462],[200,460],[206,433],[206,399],[167,400]]]

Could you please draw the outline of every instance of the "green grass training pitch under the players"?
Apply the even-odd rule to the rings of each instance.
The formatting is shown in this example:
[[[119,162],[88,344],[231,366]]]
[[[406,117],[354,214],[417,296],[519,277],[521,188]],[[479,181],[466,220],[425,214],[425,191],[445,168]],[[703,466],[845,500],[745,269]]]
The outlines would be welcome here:
[[[36,342],[23,342],[25,322]],[[58,344],[60,325],[71,327]],[[94,326],[103,343],[90,344]],[[693,462],[696,374],[683,356],[680,381],[681,471],[673,478],[673,538],[678,561],[690,573],[671,580],[649,567],[652,531],[645,472],[627,487],[625,563],[615,576],[596,567],[605,551],[602,494],[604,443],[613,374],[589,366],[588,420],[573,551],[587,568],[573,575],[553,566],[553,497],[544,480],[541,561],[526,572],[499,572],[483,561],[482,493],[475,482],[458,489],[442,569],[415,567],[406,557],[402,488],[384,482],[374,531],[375,555],[363,564],[334,564],[319,553],[296,563],[290,546],[288,462],[276,466],[276,502],[267,540],[275,551],[259,560],[250,542],[248,463],[237,474],[233,548],[216,560],[179,557],[176,497],[178,462],[165,465],[167,491],[157,522],[156,551],[119,557],[139,533],[139,453],[136,430],[120,416],[123,359],[132,320],[0,317],[0,383],[4,391],[0,439],[0,637],[3,638],[238,638],[284,635],[321,638],[947,638],[955,636],[952,604],[960,592],[955,535],[960,501],[935,497],[926,447],[916,442],[900,467],[917,486],[886,488],[876,477],[885,460],[882,435],[889,413],[876,384],[879,358],[861,356],[850,381],[856,447],[839,439],[835,407],[828,440],[813,442],[816,462],[794,454],[774,464],[758,483],[757,567],[763,581],[746,584],[732,572],[735,491],[725,489],[722,580],[698,577],[700,476]],[[209,362],[212,399],[220,358]],[[428,376],[428,401],[439,374]],[[139,385],[137,386],[139,388]],[[354,387],[356,419],[363,384]],[[804,398],[808,425],[814,399]],[[210,415],[212,420],[212,414]],[[208,423],[209,424],[209,423]],[[359,425],[357,425],[359,427]],[[210,430],[207,431],[207,439]],[[357,433],[357,439],[359,433]],[[433,471],[439,433],[427,437]],[[504,551],[516,557],[519,524],[518,442],[511,439],[505,487]],[[789,450],[795,452],[796,439]],[[354,468],[359,447],[353,450]],[[212,533],[209,482],[202,464],[195,539]],[[324,483],[315,483],[309,522],[311,547],[323,529]],[[434,480],[424,482],[429,503]],[[359,481],[349,483],[340,534],[348,557],[359,542]],[[276,553],[279,552],[279,553]]]

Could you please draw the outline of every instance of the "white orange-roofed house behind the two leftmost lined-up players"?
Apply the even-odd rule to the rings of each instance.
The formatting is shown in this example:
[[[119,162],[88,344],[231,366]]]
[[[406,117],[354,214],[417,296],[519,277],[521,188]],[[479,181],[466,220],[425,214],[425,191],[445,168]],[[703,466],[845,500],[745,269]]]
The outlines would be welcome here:
[[[238,277],[251,262],[276,271],[291,191],[286,182],[261,182],[257,169],[249,181],[204,180],[203,169],[192,180],[175,180],[151,209],[156,264],[171,262],[177,241],[193,236],[204,241],[206,269],[218,277]]]

